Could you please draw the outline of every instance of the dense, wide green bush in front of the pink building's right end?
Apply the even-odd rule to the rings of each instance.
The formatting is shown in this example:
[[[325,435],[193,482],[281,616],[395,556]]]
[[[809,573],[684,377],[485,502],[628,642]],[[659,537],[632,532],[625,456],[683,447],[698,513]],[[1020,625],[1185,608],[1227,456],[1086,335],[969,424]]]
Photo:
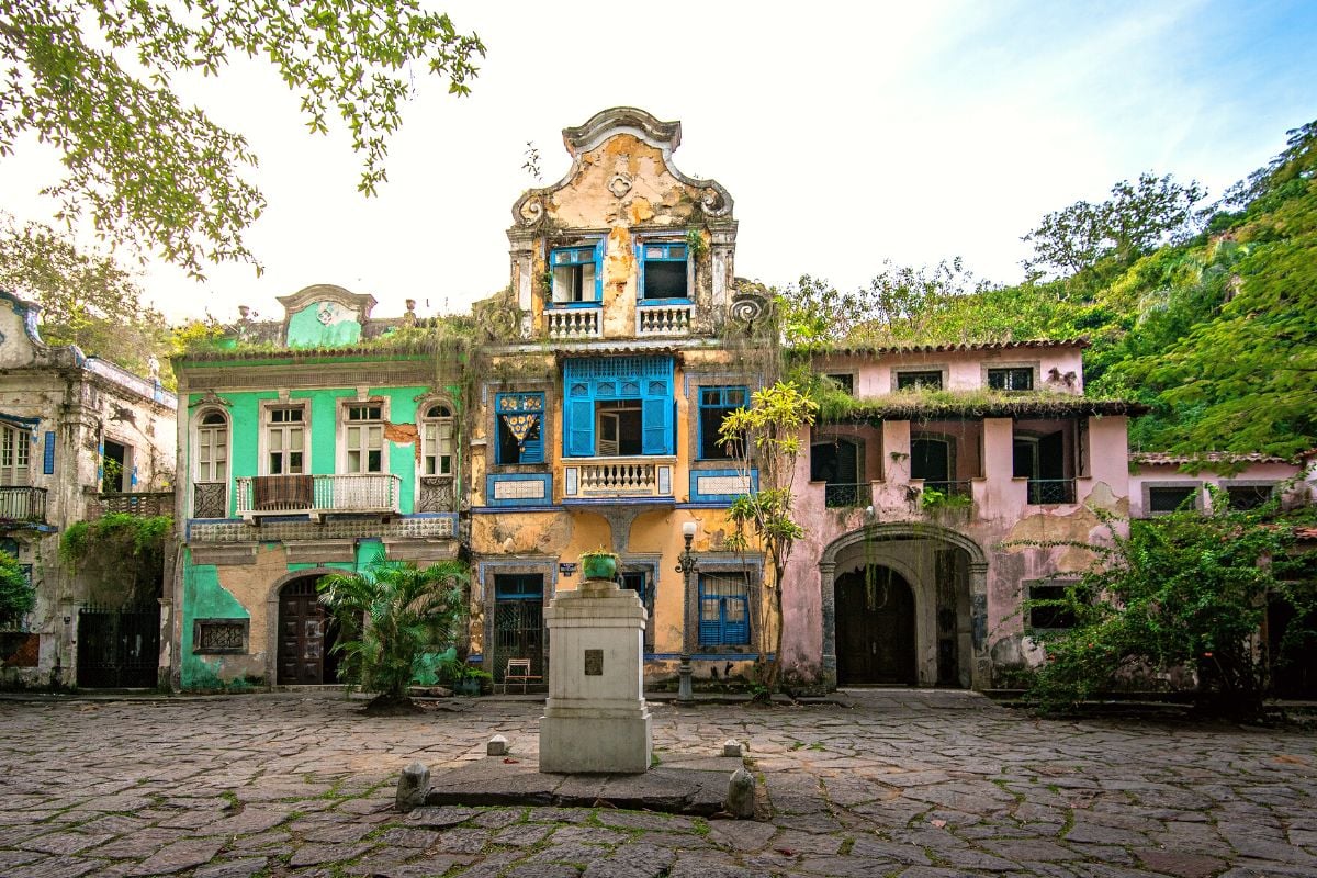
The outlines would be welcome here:
[[[1293,527],[1276,505],[1231,511],[1221,496],[1212,515],[1130,521],[1129,536],[1108,520],[1110,545],[1084,546],[1098,555],[1093,569],[1064,596],[1026,604],[1075,619],[1068,631],[1038,634],[1047,661],[1030,699],[1043,711],[1067,710],[1141,675],[1189,669],[1200,707],[1259,715],[1272,666],[1317,623],[1317,555],[1293,550]],[[1292,621],[1279,654],[1268,656],[1259,632],[1277,604]]]

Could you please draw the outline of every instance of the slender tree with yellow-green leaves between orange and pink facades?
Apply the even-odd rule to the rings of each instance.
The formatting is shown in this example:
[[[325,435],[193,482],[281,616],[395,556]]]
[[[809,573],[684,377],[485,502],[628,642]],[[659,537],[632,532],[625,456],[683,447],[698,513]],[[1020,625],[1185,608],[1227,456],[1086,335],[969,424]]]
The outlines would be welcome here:
[[[723,419],[718,442],[727,448],[736,469],[751,486],[736,498],[727,517],[736,525],[728,544],[747,550],[759,544],[773,565],[773,582],[768,586],[760,631],[772,628],[773,662],[763,683],[772,690],[782,666],[782,581],[792,546],[805,536],[805,528],[793,517],[795,505],[793,483],[795,461],[801,453],[801,432],[814,423],[818,404],[801,392],[794,382],[778,382],[755,391],[749,408],[732,411]],[[759,484],[751,473],[759,470]],[[763,641],[760,641],[763,642]]]

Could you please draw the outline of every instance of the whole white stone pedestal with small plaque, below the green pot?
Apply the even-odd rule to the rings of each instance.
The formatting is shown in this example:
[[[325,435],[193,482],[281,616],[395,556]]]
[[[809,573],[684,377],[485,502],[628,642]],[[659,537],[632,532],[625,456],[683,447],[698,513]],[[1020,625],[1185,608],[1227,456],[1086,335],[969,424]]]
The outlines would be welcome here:
[[[630,588],[586,579],[544,611],[552,644],[540,771],[643,774],[653,733],[644,699],[645,609]]]

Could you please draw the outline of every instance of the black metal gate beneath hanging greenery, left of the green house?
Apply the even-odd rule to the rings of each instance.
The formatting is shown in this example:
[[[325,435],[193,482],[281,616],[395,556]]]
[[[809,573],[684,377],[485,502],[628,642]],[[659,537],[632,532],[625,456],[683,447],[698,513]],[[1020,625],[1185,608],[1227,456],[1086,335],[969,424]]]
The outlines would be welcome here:
[[[155,688],[161,606],[88,606],[78,611],[78,686]]]

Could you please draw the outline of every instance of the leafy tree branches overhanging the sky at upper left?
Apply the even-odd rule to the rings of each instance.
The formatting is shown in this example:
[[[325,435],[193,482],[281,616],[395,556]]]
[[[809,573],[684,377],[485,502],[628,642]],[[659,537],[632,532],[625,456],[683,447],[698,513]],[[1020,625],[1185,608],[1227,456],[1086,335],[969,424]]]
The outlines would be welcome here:
[[[86,217],[113,244],[155,247],[198,278],[207,262],[259,270],[242,238],[266,204],[242,175],[257,157],[186,105],[174,74],[267,61],[312,133],[346,129],[363,157],[357,188],[373,195],[414,71],[465,95],[483,54],[479,37],[417,0],[4,0],[0,155],[24,136],[54,147],[63,178],[42,192],[59,219]]]

